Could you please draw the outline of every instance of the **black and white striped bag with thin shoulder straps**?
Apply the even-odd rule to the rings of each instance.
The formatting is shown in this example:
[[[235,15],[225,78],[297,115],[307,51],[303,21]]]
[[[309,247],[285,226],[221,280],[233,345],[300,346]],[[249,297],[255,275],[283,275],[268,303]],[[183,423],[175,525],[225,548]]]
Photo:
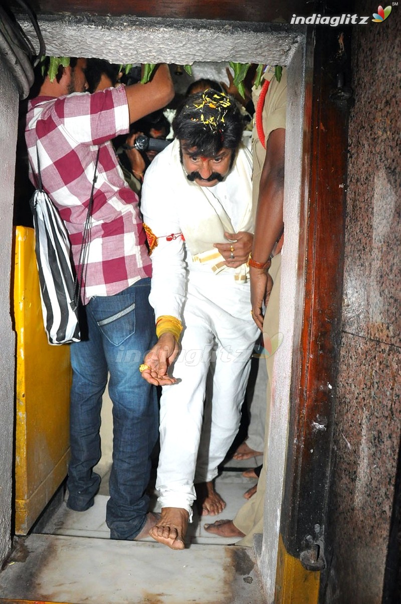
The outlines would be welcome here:
[[[80,251],[80,279],[72,265],[71,243],[64,222],[48,194],[43,191],[37,153],[39,188],[30,199],[35,231],[35,254],[39,272],[40,299],[43,324],[49,344],[68,344],[81,339],[79,327],[79,298],[83,266],[85,266],[86,240],[92,213],[93,192],[96,182],[98,155],[92,183],[91,199],[83,228]]]

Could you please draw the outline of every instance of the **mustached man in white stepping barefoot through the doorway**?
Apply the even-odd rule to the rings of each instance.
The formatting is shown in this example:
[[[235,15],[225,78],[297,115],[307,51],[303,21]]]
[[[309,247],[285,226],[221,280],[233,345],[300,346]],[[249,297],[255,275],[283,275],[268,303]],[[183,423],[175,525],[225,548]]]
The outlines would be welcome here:
[[[185,547],[196,498],[204,514],[225,507],[213,480],[239,428],[257,338],[246,264],[252,165],[240,114],[234,100],[211,91],[182,111],[173,123],[178,138],[147,170],[141,201],[159,336],[141,370],[163,385],[162,515],[150,534],[173,549]]]

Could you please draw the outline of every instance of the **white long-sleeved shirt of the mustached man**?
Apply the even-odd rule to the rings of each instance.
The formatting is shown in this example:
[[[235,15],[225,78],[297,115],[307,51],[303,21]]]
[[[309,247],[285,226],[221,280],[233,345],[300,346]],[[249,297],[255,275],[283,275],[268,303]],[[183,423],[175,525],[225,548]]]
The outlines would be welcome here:
[[[178,141],[175,141],[156,156],[147,169],[142,188],[144,223],[158,238],[151,255],[153,274],[149,297],[156,318],[161,315],[182,318],[191,280],[207,283],[208,297],[213,297],[213,290],[221,286],[238,287],[234,281],[237,269],[225,268],[214,274],[210,263],[193,262],[193,255],[204,251],[217,253],[213,243],[226,242],[225,230],[253,233],[249,152],[240,147],[233,169],[224,181],[214,187],[201,187],[188,181],[178,149]],[[216,214],[222,216],[223,223]],[[225,222],[225,214],[231,228]],[[217,231],[214,230],[216,220],[220,226]]]

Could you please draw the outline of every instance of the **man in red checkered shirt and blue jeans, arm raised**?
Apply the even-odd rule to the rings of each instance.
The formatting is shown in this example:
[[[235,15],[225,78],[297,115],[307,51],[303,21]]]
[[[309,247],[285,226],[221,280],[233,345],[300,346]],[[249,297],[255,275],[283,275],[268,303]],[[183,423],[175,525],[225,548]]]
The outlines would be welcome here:
[[[146,536],[156,521],[147,513],[145,490],[158,409],[154,390],[138,371],[155,341],[155,319],[138,197],[124,181],[111,139],[164,107],[174,89],[167,65],[160,65],[146,85],[88,94],[85,67],[85,59],[71,59],[53,82],[48,76],[40,80],[39,94],[28,105],[25,138],[31,180],[36,184],[38,152],[43,188],[65,222],[76,267],[99,150],[81,291],[87,335],[71,344],[67,506],[84,511],[94,504],[100,477],[92,468],[101,455],[101,397],[109,373],[114,440],[106,522],[112,539],[135,539]]]

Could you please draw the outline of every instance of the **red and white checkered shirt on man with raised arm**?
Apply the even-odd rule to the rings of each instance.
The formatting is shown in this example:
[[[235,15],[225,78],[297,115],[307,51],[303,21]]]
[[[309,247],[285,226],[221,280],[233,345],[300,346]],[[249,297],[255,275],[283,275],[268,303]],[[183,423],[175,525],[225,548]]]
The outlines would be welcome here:
[[[100,148],[81,291],[84,304],[93,296],[118,294],[152,274],[138,196],[124,181],[110,142],[128,130],[123,86],[95,94],[37,97],[28,105],[25,139],[30,167],[37,175],[37,146],[43,189],[65,222],[75,268]]]

